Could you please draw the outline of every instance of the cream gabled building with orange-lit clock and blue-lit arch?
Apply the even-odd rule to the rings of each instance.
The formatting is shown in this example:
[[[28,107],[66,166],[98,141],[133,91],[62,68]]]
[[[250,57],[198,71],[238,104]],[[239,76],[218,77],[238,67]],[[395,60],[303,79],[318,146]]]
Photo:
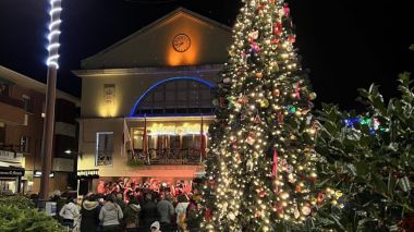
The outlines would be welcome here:
[[[180,8],[83,60],[73,71],[82,78],[80,175],[173,184],[203,173],[231,38],[229,27]]]

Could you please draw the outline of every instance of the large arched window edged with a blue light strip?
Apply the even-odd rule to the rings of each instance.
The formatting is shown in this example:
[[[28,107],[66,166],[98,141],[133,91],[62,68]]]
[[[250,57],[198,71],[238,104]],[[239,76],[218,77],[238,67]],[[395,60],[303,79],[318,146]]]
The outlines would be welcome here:
[[[161,81],[139,97],[132,115],[212,114],[212,87],[210,83],[193,77]]]

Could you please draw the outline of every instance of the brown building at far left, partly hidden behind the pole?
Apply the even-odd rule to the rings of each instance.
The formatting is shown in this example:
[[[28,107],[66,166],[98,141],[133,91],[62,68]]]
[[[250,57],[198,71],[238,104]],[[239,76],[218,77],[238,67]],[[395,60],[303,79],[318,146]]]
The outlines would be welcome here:
[[[41,175],[41,137],[46,85],[0,66],[0,194],[37,193]],[[80,100],[57,91],[51,190],[65,191],[75,171],[76,108]]]

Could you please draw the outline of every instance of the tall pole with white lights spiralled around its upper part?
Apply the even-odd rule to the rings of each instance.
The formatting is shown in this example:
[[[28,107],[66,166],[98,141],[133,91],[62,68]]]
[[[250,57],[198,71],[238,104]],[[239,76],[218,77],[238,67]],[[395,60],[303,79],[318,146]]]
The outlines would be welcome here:
[[[40,195],[38,207],[45,208],[49,194],[49,174],[52,163],[53,151],[53,127],[54,127],[54,102],[56,102],[56,82],[59,69],[59,35],[60,35],[60,13],[62,12],[62,0],[50,1],[50,25],[49,25],[49,57],[47,60],[48,76],[46,90],[46,117],[44,124],[44,135],[41,141],[41,179]]]

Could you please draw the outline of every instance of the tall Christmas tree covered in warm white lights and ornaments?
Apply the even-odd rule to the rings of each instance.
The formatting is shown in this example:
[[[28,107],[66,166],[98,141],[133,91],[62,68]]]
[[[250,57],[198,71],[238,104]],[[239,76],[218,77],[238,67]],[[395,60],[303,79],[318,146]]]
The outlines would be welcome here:
[[[206,231],[303,224],[334,195],[316,184],[320,159],[309,113],[316,95],[293,47],[290,9],[283,0],[244,3],[210,125]]]

